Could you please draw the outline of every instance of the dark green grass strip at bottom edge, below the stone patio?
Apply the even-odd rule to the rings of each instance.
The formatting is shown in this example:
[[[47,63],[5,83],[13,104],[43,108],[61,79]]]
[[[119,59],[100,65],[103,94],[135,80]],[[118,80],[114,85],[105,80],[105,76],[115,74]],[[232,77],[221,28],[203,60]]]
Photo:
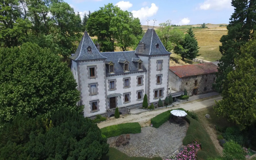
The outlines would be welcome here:
[[[116,148],[110,147],[108,154],[102,157],[101,160],[162,160],[162,158],[129,157],[126,154],[117,150]]]

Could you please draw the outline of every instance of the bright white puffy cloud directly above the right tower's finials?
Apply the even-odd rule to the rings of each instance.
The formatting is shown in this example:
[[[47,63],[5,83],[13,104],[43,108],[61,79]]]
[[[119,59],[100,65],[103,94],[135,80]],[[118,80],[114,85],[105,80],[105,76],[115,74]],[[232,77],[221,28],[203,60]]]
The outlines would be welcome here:
[[[142,7],[140,8],[140,10],[133,10],[132,14],[134,17],[138,17],[140,20],[143,20],[147,17],[154,16],[157,11],[158,11],[158,6],[152,3],[150,8]]]

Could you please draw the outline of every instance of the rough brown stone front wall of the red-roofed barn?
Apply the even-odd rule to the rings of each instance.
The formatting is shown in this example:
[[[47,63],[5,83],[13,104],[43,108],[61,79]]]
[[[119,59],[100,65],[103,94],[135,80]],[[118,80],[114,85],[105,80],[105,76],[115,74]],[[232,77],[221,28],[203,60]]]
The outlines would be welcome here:
[[[196,80],[197,84],[195,85]],[[181,78],[180,90],[186,88],[188,96],[194,95],[194,89],[197,89],[197,94],[204,94],[214,91],[212,88],[213,83],[215,83],[215,73]]]

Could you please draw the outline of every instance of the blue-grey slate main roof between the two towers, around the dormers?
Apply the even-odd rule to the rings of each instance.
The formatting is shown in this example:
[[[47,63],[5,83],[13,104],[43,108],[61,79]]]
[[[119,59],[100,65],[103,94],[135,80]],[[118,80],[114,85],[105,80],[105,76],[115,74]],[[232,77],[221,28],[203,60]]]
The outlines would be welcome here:
[[[132,58],[138,58],[135,51],[124,51],[124,52],[102,52],[102,56],[106,57],[108,61],[112,61],[114,63],[114,73],[124,73],[124,63],[118,62],[119,60],[127,60],[129,73],[138,72],[137,62],[132,62]],[[107,67],[106,67],[107,71]],[[142,65],[142,71],[146,71],[146,68]],[[106,72],[108,73],[108,72]]]

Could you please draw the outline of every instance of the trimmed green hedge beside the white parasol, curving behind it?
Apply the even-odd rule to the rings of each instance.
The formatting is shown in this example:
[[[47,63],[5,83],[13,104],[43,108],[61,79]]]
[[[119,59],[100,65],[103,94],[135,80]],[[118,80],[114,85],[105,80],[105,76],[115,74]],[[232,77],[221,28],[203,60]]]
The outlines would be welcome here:
[[[177,108],[177,109],[173,109],[173,110],[184,110],[183,108]],[[154,128],[158,128],[160,127],[162,124],[164,124],[164,122],[166,122],[167,120],[169,120],[169,118],[172,118],[172,114],[171,114],[172,110],[168,110],[166,112],[162,112],[161,114],[158,114],[157,116],[155,116],[154,118],[151,119],[151,123],[153,124]]]

